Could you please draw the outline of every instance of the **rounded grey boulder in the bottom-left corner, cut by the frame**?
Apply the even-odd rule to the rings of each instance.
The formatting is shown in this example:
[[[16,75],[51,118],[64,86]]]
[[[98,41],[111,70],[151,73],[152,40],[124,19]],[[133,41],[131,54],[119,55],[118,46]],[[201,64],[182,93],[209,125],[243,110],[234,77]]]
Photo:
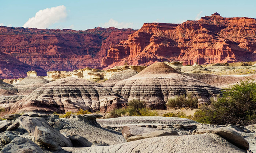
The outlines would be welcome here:
[[[14,138],[1,150],[3,153],[43,153],[35,142],[21,137]]]

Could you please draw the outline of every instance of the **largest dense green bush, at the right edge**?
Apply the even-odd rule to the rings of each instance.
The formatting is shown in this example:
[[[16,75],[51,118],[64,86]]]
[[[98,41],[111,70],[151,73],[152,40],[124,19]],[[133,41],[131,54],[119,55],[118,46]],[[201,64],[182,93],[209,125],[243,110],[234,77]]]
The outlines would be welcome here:
[[[217,101],[196,111],[193,119],[201,123],[219,125],[255,124],[256,83],[245,81],[226,89]]]

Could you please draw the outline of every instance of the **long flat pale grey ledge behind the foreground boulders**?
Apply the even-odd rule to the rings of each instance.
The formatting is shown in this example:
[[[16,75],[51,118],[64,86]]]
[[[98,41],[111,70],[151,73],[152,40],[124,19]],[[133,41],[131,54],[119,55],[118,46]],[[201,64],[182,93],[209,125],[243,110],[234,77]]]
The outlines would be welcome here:
[[[96,119],[96,121],[104,126],[119,125],[174,125],[174,124],[195,124],[198,123],[187,118],[178,117],[160,117],[160,116],[125,116],[118,118],[108,118],[108,119]]]

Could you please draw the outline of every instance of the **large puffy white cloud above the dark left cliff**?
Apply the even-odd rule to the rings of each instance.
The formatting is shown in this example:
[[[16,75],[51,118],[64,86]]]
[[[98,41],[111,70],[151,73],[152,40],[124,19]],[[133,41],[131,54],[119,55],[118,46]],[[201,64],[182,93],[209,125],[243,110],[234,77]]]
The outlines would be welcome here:
[[[64,5],[41,9],[35,13],[34,17],[23,25],[23,27],[45,29],[52,24],[64,21],[67,18],[67,10]]]

